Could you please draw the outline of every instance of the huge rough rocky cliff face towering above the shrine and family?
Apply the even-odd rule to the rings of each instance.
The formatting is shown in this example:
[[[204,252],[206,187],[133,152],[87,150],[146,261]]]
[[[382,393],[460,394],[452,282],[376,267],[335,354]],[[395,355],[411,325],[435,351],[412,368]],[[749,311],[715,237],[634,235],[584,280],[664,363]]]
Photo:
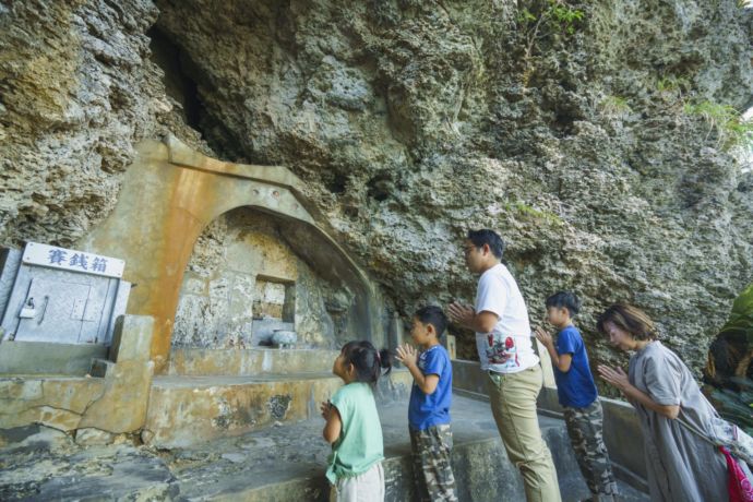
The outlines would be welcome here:
[[[290,167],[404,314],[473,300],[459,242],[495,228],[534,320],[577,291],[611,359],[594,315],[633,301],[698,369],[753,268],[753,174],[708,112],[751,105],[752,11],[557,5],[582,15],[538,0],[3,2],[0,240],[75,242],[134,143],[172,131]]]

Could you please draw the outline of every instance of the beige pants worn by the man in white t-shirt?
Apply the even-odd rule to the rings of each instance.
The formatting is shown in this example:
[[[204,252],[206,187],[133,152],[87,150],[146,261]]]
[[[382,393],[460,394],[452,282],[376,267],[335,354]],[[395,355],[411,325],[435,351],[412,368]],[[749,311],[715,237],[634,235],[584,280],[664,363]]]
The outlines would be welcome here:
[[[542,382],[539,364],[517,373],[490,372],[489,399],[507,457],[523,475],[528,502],[560,502],[557,470],[536,415]]]

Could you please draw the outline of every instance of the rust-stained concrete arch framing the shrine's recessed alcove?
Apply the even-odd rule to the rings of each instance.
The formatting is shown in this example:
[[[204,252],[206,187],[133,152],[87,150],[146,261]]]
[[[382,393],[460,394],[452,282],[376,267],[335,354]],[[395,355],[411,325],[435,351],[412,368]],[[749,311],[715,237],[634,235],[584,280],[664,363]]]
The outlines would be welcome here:
[[[219,162],[174,136],[138,146],[116,208],[80,246],[125,260],[124,278],[136,285],[128,312],[155,318],[151,357],[158,372],[169,357],[194,244],[212,222],[239,207],[268,216],[286,244],[319,277],[352,294],[350,327],[358,333],[351,337],[386,342],[375,289],[322,228],[326,222],[315,217],[301,188],[285,167]]]

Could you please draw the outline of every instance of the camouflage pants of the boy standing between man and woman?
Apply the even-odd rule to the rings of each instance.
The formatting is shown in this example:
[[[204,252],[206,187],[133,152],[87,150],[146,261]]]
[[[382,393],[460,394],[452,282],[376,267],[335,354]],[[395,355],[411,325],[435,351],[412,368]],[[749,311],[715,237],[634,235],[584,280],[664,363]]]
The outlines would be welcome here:
[[[612,500],[617,494],[617,481],[603,444],[601,403],[597,398],[585,408],[565,406],[564,419],[575,458],[590,492],[599,495],[599,500]]]

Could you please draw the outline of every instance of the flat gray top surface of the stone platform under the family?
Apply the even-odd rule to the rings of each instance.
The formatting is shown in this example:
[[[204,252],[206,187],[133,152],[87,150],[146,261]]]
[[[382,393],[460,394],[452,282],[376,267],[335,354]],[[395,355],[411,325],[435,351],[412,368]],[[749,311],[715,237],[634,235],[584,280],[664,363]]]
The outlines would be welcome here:
[[[455,396],[452,414],[456,449],[499,442],[488,403]],[[380,415],[385,456],[409,454],[407,403],[382,406]],[[562,422],[546,417],[540,422],[561,471],[563,500],[586,498]],[[322,479],[330,451],[321,439],[322,425],[315,418],[172,451],[130,443],[82,447],[45,430],[2,452],[0,500],[202,500],[218,494],[232,500],[250,487]],[[624,485],[622,489],[626,501],[648,500]],[[285,500],[282,493],[278,500]]]

